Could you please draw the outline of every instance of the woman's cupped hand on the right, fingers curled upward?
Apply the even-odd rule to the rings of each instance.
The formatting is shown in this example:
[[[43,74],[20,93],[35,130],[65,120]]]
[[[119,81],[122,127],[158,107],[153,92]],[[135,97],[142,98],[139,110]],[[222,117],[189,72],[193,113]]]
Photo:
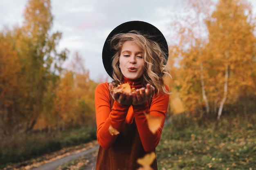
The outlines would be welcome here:
[[[146,85],[146,88],[137,89],[132,93],[132,105],[140,105],[148,101],[155,92],[155,87],[150,84]]]

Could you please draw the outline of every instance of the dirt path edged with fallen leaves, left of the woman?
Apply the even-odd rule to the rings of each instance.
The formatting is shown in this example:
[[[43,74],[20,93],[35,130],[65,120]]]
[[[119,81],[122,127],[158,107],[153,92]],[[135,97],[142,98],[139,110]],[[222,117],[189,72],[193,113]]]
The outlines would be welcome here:
[[[92,170],[95,168],[99,144],[97,140],[63,148],[56,152],[36,157],[24,162],[13,164],[0,170],[57,170],[67,166],[70,161],[81,161],[79,170]]]

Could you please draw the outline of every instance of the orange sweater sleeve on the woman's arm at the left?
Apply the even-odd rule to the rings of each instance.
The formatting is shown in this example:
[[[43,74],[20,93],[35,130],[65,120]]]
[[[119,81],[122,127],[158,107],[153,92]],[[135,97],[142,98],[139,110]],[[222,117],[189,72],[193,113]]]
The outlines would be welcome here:
[[[129,106],[123,106],[114,102],[111,110],[110,93],[108,83],[99,84],[95,89],[95,110],[97,123],[97,139],[99,145],[108,149],[115,142],[117,135],[111,135],[108,131],[111,125],[120,131],[125,122]]]

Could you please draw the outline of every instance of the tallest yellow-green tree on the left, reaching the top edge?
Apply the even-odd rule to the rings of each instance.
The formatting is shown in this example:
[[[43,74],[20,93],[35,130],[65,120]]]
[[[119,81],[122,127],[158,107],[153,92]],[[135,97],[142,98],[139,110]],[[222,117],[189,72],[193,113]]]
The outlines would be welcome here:
[[[15,47],[21,66],[20,120],[26,121],[25,131],[30,131],[42,113],[47,84],[58,79],[67,50],[56,52],[61,33],[50,34],[50,0],[29,0],[24,19],[22,27],[15,29]]]

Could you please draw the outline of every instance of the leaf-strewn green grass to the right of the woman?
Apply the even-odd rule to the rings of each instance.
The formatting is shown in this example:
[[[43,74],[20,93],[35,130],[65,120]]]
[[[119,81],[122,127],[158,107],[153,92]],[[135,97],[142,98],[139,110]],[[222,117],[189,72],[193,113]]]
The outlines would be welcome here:
[[[157,146],[159,170],[256,169],[256,116],[205,121],[174,117]],[[186,124],[183,124],[186,122]]]

